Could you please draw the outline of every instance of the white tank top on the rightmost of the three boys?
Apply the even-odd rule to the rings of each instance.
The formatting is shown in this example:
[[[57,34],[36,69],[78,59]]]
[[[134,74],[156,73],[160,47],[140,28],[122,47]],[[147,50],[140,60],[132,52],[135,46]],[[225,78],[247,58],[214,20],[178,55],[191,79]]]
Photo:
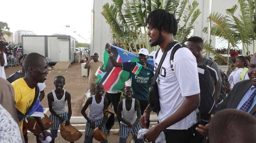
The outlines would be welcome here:
[[[126,108],[125,108],[125,99],[123,99],[122,118],[124,120],[128,121],[131,124],[135,123],[135,121],[137,119],[137,112],[134,110],[134,103],[135,103],[135,99],[132,98],[132,107],[131,107],[130,111],[127,111]],[[120,123],[123,124],[123,125],[126,125],[122,121]]]

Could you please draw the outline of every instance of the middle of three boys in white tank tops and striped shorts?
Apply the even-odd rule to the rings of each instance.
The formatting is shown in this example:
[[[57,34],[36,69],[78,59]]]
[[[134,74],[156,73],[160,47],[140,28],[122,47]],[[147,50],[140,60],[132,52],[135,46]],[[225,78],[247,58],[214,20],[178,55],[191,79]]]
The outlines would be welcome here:
[[[108,100],[102,96],[104,93],[103,85],[96,83],[93,86],[93,90],[95,95],[92,95],[86,100],[81,110],[83,117],[87,120],[84,143],[92,143],[92,131],[96,127],[102,129],[105,134],[107,133],[105,122],[108,115]],[[89,112],[88,115],[86,115],[85,111],[88,107]],[[107,140],[101,143],[107,143]]]

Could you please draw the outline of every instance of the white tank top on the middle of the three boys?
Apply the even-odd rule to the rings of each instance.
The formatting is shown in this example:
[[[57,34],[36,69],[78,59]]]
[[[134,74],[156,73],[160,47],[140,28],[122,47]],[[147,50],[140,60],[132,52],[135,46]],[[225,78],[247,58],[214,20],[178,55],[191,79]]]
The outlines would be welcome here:
[[[89,104],[89,112],[88,118],[91,121],[96,121],[103,118],[103,110],[104,110],[104,97],[102,96],[99,104],[96,103],[95,95],[92,95],[92,102]]]

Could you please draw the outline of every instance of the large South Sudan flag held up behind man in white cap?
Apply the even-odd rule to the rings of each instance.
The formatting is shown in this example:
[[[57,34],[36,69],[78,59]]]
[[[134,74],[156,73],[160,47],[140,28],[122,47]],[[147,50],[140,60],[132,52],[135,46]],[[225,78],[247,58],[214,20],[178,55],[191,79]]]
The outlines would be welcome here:
[[[111,46],[111,51],[115,60],[120,62],[139,62],[139,58],[136,54],[130,53],[119,47]],[[108,56],[108,52],[105,51],[103,54],[104,67],[106,74],[102,79],[96,81],[104,86],[105,91],[118,91],[124,88],[125,82],[130,78],[128,71],[122,70],[122,68],[113,67],[113,64]],[[148,63],[154,65],[153,59],[148,59]]]

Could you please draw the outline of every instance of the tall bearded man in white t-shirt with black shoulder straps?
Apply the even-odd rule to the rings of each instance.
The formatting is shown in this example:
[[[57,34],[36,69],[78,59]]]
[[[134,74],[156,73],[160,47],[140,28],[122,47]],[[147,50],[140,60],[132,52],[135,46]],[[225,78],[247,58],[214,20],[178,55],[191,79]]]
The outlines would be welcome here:
[[[161,50],[154,59],[155,69],[169,43],[175,41],[178,24],[173,14],[163,9],[152,11],[147,20],[148,36],[151,47],[159,45]],[[174,54],[171,70],[170,54],[167,53],[157,77],[161,110],[159,124],[149,128],[144,137],[155,141],[164,131],[166,142],[189,143],[192,140],[192,126],[196,124],[196,112],[200,103],[200,88],[196,58],[188,48],[180,48]],[[140,123],[146,128],[151,112],[150,105],[144,111]]]

